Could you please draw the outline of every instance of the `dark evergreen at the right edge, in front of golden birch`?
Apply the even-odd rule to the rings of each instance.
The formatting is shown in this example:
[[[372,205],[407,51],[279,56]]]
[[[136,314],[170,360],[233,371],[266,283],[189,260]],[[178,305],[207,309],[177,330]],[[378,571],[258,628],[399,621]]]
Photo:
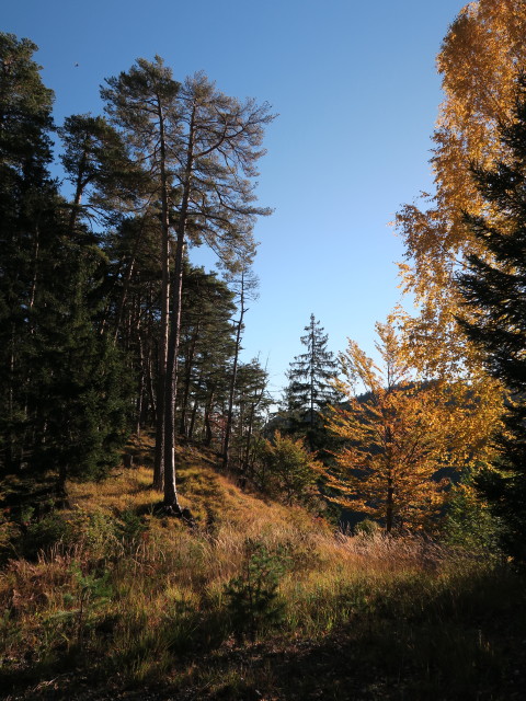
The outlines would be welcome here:
[[[479,485],[508,525],[507,548],[526,560],[526,78],[518,81],[515,119],[501,126],[506,162],[473,169],[484,216],[466,221],[485,250],[468,256],[458,275],[466,302],[461,319],[468,338],[482,352],[487,370],[511,393],[503,461]]]

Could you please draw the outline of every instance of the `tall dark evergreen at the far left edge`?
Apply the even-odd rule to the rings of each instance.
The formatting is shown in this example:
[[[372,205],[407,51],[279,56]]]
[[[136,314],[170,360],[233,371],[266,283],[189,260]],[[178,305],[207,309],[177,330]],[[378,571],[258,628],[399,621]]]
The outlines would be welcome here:
[[[0,462],[16,472],[30,453],[35,302],[54,238],[53,92],[28,39],[0,33]]]

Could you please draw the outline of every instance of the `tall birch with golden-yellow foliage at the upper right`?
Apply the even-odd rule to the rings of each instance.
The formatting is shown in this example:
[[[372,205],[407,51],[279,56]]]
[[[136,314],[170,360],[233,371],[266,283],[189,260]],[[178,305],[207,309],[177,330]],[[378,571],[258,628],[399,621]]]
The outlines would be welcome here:
[[[476,349],[456,323],[460,295],[455,275],[483,245],[466,226],[465,212],[498,217],[483,202],[471,174],[510,158],[498,138],[499,125],[513,118],[517,72],[526,66],[524,0],[468,3],[449,27],[437,57],[444,102],[433,136],[435,194],[424,206],[405,205],[397,229],[407,252],[403,286],[419,307],[403,312],[407,352],[430,377],[479,372]]]

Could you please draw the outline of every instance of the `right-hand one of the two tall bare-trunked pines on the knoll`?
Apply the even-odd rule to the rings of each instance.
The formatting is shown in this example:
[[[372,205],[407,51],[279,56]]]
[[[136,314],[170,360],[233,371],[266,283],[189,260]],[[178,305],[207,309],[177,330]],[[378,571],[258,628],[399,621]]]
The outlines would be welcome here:
[[[206,243],[228,269],[250,261],[255,253],[256,216],[271,210],[256,207],[255,164],[264,127],[272,122],[270,106],[253,100],[240,102],[219,92],[203,73],[185,80],[180,94],[181,138],[176,180],[181,199],[176,207],[172,320],[164,392],[165,450],[164,506],[181,513],[175,486],[175,399],[181,332],[183,252],[188,240]]]

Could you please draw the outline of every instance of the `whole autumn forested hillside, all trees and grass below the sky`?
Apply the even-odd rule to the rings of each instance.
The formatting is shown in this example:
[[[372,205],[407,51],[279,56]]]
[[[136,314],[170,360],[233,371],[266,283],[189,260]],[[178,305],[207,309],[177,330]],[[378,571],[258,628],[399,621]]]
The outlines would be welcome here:
[[[0,33],[2,698],[523,698],[525,32],[449,26],[413,309],[371,357],[293,320],[281,401],[243,352],[271,106],[155,56],[55,124]]]

